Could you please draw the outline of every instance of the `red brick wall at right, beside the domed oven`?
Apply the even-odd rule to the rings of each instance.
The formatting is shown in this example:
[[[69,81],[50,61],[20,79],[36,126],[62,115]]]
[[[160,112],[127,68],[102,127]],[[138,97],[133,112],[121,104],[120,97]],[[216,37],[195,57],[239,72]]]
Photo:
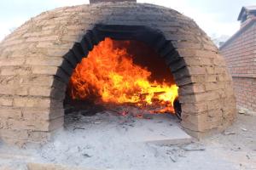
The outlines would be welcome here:
[[[256,20],[220,48],[233,77],[237,105],[256,112]]]

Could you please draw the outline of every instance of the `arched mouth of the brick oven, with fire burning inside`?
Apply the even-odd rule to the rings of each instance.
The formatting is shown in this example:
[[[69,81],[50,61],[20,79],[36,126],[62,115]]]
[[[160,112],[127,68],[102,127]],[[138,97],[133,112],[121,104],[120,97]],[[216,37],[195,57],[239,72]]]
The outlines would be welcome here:
[[[178,87],[165,59],[148,44],[105,37],[73,70],[65,114],[113,111],[139,118],[172,114],[181,120]]]

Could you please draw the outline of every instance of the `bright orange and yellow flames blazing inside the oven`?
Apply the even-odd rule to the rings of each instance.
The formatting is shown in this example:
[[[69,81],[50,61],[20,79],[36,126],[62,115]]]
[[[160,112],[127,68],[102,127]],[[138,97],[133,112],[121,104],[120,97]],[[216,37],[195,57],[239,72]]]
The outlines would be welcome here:
[[[73,99],[95,99],[97,103],[158,105],[154,112],[174,112],[177,85],[148,81],[151,72],[135,65],[125,48],[114,48],[106,38],[82,59],[73,71],[69,93]]]

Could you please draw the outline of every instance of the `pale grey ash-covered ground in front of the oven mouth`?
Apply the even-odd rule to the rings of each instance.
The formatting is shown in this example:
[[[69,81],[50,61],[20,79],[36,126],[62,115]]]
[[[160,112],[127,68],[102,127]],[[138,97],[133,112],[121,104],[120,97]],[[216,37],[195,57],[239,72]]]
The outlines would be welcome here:
[[[238,115],[224,133],[190,144],[138,140],[143,133],[165,136],[168,127],[177,126],[174,116],[67,116],[66,127],[48,144],[24,149],[1,144],[0,167],[26,170],[27,162],[43,162],[113,170],[256,170],[256,116]],[[134,133],[134,129],[142,132]]]

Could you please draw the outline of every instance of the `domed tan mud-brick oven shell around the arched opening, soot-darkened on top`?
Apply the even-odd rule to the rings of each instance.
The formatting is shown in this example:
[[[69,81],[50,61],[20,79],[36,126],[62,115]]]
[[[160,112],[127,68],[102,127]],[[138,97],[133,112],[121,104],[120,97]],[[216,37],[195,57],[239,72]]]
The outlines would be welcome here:
[[[169,66],[180,87],[182,125],[188,133],[201,138],[233,122],[236,100],[224,58],[193,20],[151,4],[94,3],[39,14],[1,42],[1,139],[42,142],[62,127],[64,79],[70,75],[58,67],[95,24],[148,26],[170,40],[178,61]]]

